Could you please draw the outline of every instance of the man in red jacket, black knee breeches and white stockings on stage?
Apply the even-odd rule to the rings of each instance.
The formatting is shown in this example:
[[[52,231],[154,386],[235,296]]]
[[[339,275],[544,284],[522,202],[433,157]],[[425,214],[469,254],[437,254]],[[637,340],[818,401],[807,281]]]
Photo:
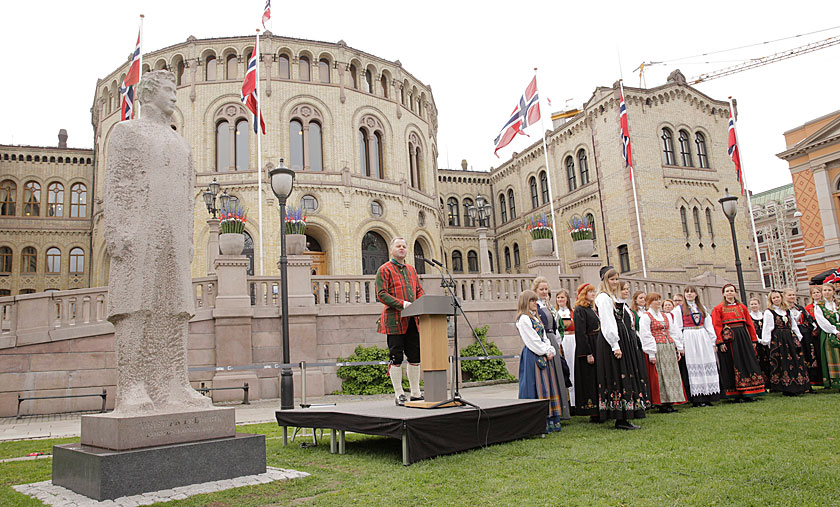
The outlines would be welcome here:
[[[388,351],[391,363],[388,375],[394,386],[396,404],[406,402],[402,388],[403,354],[408,358],[408,383],[411,386],[411,400],[422,400],[420,394],[420,333],[417,318],[401,317],[405,308],[423,295],[423,287],[417,271],[405,263],[408,245],[404,238],[394,238],[390,245],[391,260],[379,266],[376,271],[376,298],[385,305],[379,317],[377,332],[388,336]]]

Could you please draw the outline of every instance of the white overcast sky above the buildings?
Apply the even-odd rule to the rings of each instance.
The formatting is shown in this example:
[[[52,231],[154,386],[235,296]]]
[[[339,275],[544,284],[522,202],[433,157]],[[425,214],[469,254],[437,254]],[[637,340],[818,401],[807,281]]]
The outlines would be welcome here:
[[[553,109],[580,107],[596,86],[623,70],[638,86],[641,62],[669,61],[840,25],[840,2],[282,2],[273,0],[277,35],[337,42],[402,61],[432,86],[439,114],[439,167],[498,166],[539,135],[520,137],[493,156],[493,139],[539,67],[539,89]],[[54,146],[60,128],[72,147],[92,146],[96,80],[125,61],[146,15],[144,52],[198,38],[250,35],[263,0],[3,2],[0,47],[5,113],[0,144]],[[840,29],[646,71],[658,86],[675,68],[687,78],[747,58],[840,35]],[[618,54],[621,55],[619,66]],[[708,63],[703,63],[708,62]],[[738,100],[741,156],[750,188],[790,182],[782,133],[840,109],[840,45],[697,85]],[[548,115],[543,113],[548,119]],[[631,133],[632,136],[632,133]],[[538,137],[537,137],[538,139]],[[618,140],[616,140],[618,143]]]

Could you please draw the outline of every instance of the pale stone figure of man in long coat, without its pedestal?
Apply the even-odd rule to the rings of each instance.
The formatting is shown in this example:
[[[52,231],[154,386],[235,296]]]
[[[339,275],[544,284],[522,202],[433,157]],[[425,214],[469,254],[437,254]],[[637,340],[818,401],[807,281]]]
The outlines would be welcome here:
[[[114,126],[105,171],[108,320],[117,353],[115,413],[209,407],[187,377],[194,313],[192,153],[171,125],[175,76],[148,72],[142,116]]]

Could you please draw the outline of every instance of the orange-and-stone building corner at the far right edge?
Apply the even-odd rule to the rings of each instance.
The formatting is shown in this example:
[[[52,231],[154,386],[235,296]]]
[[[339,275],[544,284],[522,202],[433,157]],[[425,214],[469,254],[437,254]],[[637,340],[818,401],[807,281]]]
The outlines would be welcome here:
[[[840,111],[784,133],[808,277],[840,266]]]

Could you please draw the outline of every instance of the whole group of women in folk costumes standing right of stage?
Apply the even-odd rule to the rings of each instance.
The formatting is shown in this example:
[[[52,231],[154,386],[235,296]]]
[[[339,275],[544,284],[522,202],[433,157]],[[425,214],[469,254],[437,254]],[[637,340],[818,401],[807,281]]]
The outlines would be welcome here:
[[[760,300],[748,308],[727,284],[710,312],[695,287],[674,300],[631,297],[614,268],[600,275],[597,289],[580,285],[574,301],[565,289],[552,300],[543,277],[520,295],[519,397],[549,400],[548,431],[572,415],[633,430],[631,420],[654,406],[672,413],[687,402],[840,387],[840,312],[830,284],[812,287],[806,307],[793,289],[772,290],[763,312]]]

